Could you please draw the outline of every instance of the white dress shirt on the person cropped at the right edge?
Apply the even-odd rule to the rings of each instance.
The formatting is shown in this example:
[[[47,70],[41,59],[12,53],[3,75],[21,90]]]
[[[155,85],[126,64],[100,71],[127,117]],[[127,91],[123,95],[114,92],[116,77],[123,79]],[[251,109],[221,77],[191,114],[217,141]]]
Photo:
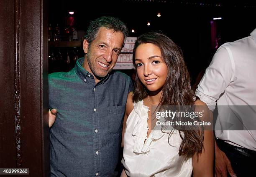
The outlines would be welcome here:
[[[217,102],[217,138],[256,151],[256,29],[248,37],[220,46],[205,70],[196,95],[212,111]],[[230,111],[222,109],[222,105],[228,105]],[[244,131],[221,130],[225,122],[231,117],[233,119],[234,115],[241,118]]]

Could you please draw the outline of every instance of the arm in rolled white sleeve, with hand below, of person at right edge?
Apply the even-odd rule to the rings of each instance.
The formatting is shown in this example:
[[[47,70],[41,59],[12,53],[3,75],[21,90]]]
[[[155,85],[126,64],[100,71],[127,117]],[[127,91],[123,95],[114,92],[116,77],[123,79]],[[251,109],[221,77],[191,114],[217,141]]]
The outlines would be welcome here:
[[[216,100],[225,92],[230,82],[233,81],[235,66],[228,49],[220,48],[212,58],[212,62],[206,69],[205,75],[196,90],[196,95],[209,107],[210,114],[215,109]],[[215,147],[215,177],[227,177],[227,171],[231,176],[235,173],[230,165],[228,157],[222,152],[214,140]]]

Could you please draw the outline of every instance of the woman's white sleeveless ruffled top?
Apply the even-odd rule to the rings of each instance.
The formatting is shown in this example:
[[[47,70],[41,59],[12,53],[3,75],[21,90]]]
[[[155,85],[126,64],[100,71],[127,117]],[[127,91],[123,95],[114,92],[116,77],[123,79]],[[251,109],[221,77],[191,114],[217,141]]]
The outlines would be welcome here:
[[[124,134],[122,163],[129,177],[191,177],[192,157],[179,156],[179,131],[169,133],[156,126],[147,137],[148,107],[133,103]],[[169,131],[170,132],[170,131]],[[146,142],[144,143],[146,139]]]

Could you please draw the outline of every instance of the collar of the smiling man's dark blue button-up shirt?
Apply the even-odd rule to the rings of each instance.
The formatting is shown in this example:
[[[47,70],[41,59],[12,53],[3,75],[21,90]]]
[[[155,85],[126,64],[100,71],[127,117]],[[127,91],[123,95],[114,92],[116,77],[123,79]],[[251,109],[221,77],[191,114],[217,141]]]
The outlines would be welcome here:
[[[84,80],[86,77],[93,77],[92,74],[90,74],[87,70],[85,70],[82,65],[84,63],[84,58],[79,58],[76,62],[76,65],[74,67],[74,70],[76,71],[77,75]],[[90,76],[91,75],[91,76]],[[110,73],[108,73],[108,75],[106,75],[105,77],[103,77],[100,82],[98,82],[98,84],[100,84],[101,82],[104,83],[108,77],[109,77]]]

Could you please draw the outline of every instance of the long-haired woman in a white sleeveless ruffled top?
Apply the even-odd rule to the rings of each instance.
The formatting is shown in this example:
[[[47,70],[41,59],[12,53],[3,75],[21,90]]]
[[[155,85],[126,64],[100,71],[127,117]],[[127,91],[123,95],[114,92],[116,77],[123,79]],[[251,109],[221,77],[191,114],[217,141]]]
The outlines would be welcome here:
[[[166,35],[148,32],[136,40],[133,64],[136,80],[126,104],[121,177],[212,177],[212,131],[154,126],[159,124],[152,115],[164,105],[205,107],[193,97],[182,51]]]

